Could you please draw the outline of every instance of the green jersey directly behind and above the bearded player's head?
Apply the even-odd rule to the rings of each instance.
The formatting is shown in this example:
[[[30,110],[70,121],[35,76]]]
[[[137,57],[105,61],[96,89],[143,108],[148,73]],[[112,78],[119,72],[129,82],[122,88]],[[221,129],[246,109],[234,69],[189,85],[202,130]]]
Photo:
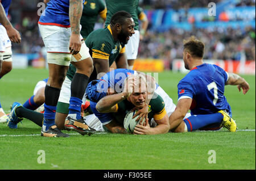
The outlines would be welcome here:
[[[139,30],[137,7],[139,5],[139,0],[106,0],[107,16],[105,27],[110,24],[110,19],[113,14],[117,11],[126,11],[133,17],[135,26],[134,30]]]

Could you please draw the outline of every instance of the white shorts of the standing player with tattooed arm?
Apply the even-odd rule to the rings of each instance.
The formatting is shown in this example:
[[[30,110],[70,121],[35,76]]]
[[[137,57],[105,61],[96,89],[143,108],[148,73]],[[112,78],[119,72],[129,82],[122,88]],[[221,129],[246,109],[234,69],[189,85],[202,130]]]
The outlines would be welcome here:
[[[48,64],[68,66],[70,61],[80,61],[90,57],[89,48],[82,43],[75,56],[69,53],[71,28],[38,24],[47,52]],[[81,27],[81,26],[80,26]],[[82,36],[80,35],[82,40]]]

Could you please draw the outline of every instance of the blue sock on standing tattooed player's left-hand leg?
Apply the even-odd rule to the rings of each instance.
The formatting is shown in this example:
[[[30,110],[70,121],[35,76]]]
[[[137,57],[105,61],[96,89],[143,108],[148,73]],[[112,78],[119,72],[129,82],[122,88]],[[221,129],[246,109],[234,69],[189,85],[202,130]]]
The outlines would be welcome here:
[[[47,131],[49,127],[55,125],[55,112],[56,106],[48,106],[44,103],[44,121],[43,121],[43,129]]]

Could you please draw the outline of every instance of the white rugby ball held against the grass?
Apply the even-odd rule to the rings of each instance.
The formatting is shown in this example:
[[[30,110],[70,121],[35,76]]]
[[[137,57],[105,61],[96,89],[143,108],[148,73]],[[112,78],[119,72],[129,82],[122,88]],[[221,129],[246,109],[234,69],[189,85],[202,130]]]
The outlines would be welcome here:
[[[136,112],[137,112],[137,110],[131,110],[131,111],[127,112],[127,114],[125,115],[125,119],[123,120],[123,127],[129,133],[133,133],[136,125],[139,124],[139,121],[135,121],[138,118],[138,116],[134,117],[134,119],[133,119],[133,116],[135,115]]]

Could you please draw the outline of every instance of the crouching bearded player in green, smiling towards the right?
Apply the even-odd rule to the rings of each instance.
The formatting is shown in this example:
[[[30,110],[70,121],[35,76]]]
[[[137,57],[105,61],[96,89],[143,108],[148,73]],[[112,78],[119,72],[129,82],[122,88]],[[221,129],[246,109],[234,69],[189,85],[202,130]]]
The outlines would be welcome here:
[[[118,68],[127,69],[125,44],[134,34],[134,21],[126,11],[118,11],[112,16],[110,24],[106,28],[93,31],[85,40],[93,58],[94,70],[89,81],[97,79],[97,74],[107,73],[109,66],[115,63]],[[60,97],[57,103],[55,123],[59,129],[65,129],[65,119],[75,121],[72,115],[68,115],[71,80],[75,69],[69,66],[67,76],[61,87]],[[100,77],[102,74],[100,75]],[[84,121],[80,121],[84,124]],[[85,128],[87,126],[85,125]]]

